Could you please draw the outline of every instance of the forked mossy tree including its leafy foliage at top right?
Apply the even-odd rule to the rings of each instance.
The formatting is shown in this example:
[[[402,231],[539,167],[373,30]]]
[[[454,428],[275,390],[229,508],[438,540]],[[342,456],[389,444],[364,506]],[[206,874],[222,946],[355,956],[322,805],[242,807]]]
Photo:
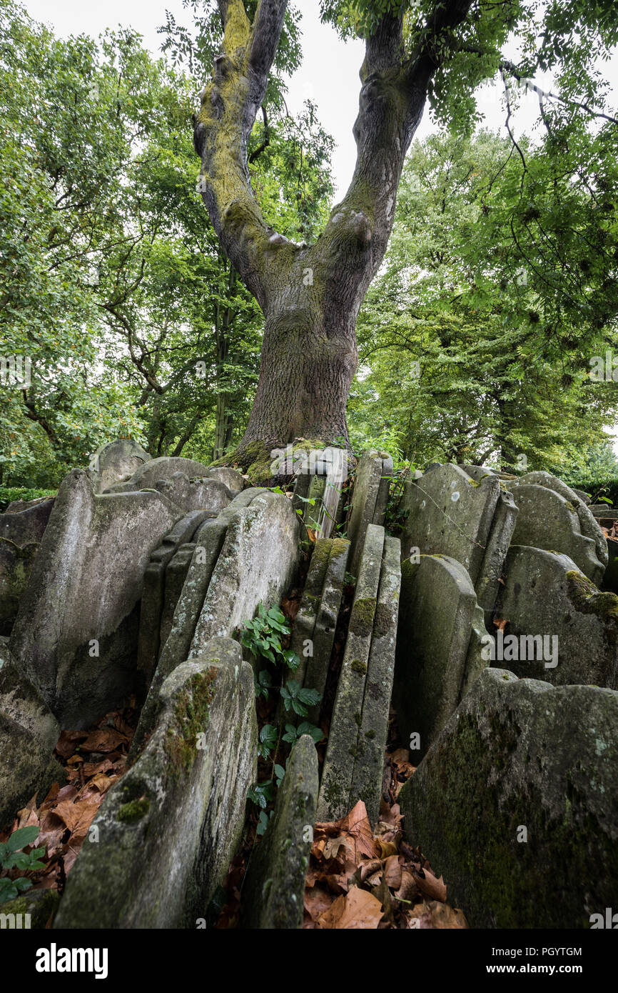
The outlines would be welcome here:
[[[356,317],[386,250],[404,159],[428,95],[443,120],[465,127],[474,117],[473,90],[484,78],[500,72],[522,79],[549,69],[567,105],[602,113],[590,69],[617,39],[611,0],[551,0],[543,10],[519,0],[324,0],[325,20],[365,39],[357,161],[319,237],[296,244],[256,203],[246,154],[286,8],[287,0],[260,0],[253,13],[242,0],[219,0],[221,50],[194,124],[212,225],[265,317],[260,379],[241,453],[252,443],[269,448],[297,436],[347,443]],[[512,32],[521,42],[517,64],[501,52]],[[582,73],[583,95],[577,93]]]

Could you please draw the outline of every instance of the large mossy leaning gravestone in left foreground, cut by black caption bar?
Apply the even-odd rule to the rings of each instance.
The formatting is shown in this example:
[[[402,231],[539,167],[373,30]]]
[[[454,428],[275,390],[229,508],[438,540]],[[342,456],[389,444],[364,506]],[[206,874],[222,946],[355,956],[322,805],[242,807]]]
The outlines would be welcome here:
[[[109,790],[67,880],[56,927],[191,927],[206,918],[257,770],[253,672],[214,638],[178,666],[139,760]]]

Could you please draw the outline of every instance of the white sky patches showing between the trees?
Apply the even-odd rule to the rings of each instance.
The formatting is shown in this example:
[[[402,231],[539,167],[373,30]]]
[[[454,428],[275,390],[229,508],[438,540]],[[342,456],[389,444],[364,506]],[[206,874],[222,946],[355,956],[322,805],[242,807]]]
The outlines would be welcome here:
[[[303,13],[304,62],[290,80],[288,105],[293,113],[307,97],[317,105],[322,125],[337,142],[333,172],[337,193],[342,196],[352,177],[356,157],[352,125],[358,110],[358,72],[363,61],[363,45],[359,41],[344,44],[332,28],[320,24],[317,0],[297,0],[297,5]],[[25,0],[25,6],[36,20],[50,24],[62,36],[97,36],[105,28],[119,24],[135,28],[156,56],[161,55],[162,41],[157,28],[165,23],[166,9],[173,12],[178,22],[189,23],[190,17],[182,0],[105,0],[100,4],[88,0]],[[610,67],[603,67],[604,74],[608,69],[618,92],[618,59]],[[543,79],[537,81],[544,84]],[[486,126],[494,129],[503,126],[505,110],[498,85],[483,87],[478,105]],[[535,94],[523,96],[521,109],[514,115],[516,134],[522,130],[530,132],[537,116]],[[424,138],[433,130],[426,111],[416,137]]]

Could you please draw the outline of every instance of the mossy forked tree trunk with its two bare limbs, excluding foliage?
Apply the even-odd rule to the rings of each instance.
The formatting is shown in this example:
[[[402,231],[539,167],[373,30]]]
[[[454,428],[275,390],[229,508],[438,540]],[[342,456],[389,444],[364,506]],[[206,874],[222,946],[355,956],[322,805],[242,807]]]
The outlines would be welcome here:
[[[194,143],[213,227],[265,316],[260,379],[241,450],[296,437],[347,443],[356,317],[384,257],[404,158],[430,80],[470,5],[436,2],[412,55],[405,55],[401,18],[386,15],[366,40],[352,182],[315,243],[298,245],[264,220],[247,167],[247,140],[287,0],[260,0],[253,24],[242,0],[219,0],[221,55],[201,94]]]

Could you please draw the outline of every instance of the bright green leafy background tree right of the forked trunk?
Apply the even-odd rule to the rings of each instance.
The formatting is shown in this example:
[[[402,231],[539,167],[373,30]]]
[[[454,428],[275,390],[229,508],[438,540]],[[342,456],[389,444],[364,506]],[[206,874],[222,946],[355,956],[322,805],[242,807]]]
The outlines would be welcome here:
[[[361,365],[349,406],[355,441],[364,434],[379,443],[386,431],[422,465],[491,459],[560,476],[592,447],[606,447],[601,427],[616,419],[618,391],[591,380],[585,350],[618,345],[615,311],[599,329],[599,310],[582,300],[563,315],[560,350],[544,334],[542,314],[553,308],[556,287],[546,300],[544,279],[527,267],[504,222],[509,216],[518,228],[529,210],[511,151],[508,137],[488,132],[413,145],[385,265],[358,320]],[[553,168],[542,147],[527,143],[524,151],[531,172]],[[544,230],[557,213],[547,201],[537,216]],[[575,230],[585,229],[587,209],[587,195],[571,190]],[[581,240],[562,246],[562,296]],[[610,234],[604,245],[613,250]],[[550,271],[546,265],[542,275]],[[595,292],[593,281],[586,291]]]

